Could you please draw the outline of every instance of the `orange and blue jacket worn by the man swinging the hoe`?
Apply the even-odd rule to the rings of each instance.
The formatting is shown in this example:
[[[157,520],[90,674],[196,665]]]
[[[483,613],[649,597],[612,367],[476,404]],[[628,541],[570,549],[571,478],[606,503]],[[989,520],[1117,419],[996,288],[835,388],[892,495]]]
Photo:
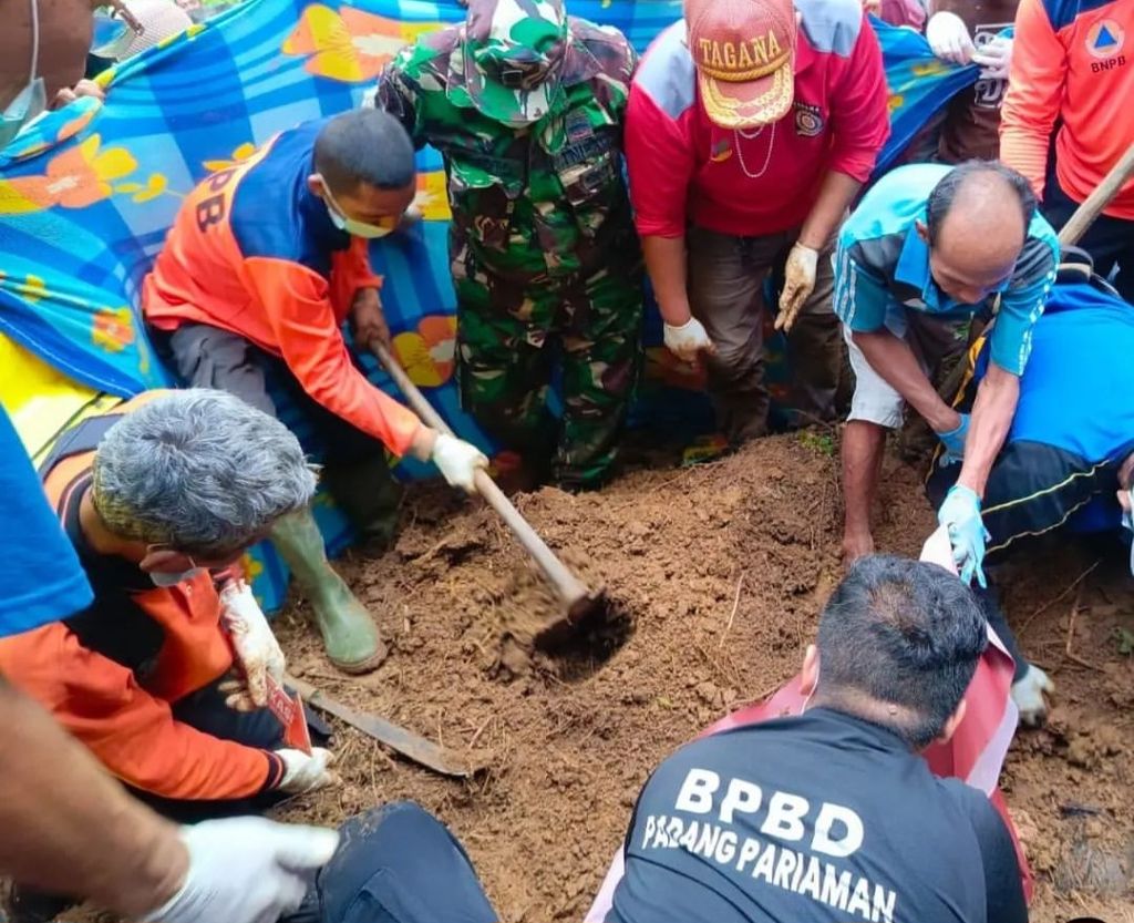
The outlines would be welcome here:
[[[323,124],[277,135],[193,191],[145,279],[142,307],[159,329],[208,324],[281,356],[312,398],[404,455],[417,417],[366,380],[342,339],[355,293],[381,279],[366,241],[335,227],[307,188]]]

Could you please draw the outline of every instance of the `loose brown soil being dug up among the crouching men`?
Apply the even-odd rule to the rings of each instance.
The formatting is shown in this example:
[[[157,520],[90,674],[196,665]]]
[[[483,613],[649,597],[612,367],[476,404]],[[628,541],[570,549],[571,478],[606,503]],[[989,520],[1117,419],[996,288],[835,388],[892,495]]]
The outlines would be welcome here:
[[[362,679],[335,673],[302,603],[280,633],[308,681],[448,747],[488,749],[492,766],[445,780],[337,725],[345,784],[289,814],[335,823],[416,799],[466,845],[501,920],[578,921],[651,769],[798,668],[840,573],[837,458],[826,437],[776,437],[710,465],[631,473],[601,494],[543,489],[516,503],[607,587],[607,618],[539,652],[533,637],[556,604],[519,547],[479,503],[415,488],[397,545],[342,564],[390,641],[386,664]],[[916,472],[888,462],[880,547],[916,554],[932,526]],[[1060,548],[1007,577],[1009,618],[1060,690],[1049,728],[1021,738],[1005,774],[1040,875],[1040,923],[1116,923],[1128,906],[1134,682],[1116,632],[1134,630],[1134,605],[1110,562],[1060,596],[1092,560]]]

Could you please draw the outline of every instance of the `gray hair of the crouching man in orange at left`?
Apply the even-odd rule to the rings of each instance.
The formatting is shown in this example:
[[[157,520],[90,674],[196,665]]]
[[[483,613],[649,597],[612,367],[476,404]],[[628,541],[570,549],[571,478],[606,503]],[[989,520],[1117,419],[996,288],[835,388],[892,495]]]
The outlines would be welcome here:
[[[172,391],[115,423],[94,458],[94,506],[115,535],[226,557],[302,510],[315,475],[279,420],[220,391]]]

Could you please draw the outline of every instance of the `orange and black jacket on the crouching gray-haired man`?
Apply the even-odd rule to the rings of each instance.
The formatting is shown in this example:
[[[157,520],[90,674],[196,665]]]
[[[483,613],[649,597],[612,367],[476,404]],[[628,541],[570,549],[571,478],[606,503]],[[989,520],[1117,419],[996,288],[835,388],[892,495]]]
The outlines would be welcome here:
[[[127,402],[115,414],[154,394]],[[43,480],[95,602],[64,622],[0,639],[0,674],[135,788],[166,798],[219,800],[274,787],[284,772],[278,756],[174,718],[174,703],[232,666],[220,599],[206,572],[159,588],[125,559],[86,547],[78,505],[91,484],[93,458],[90,450],[77,451],[51,465]]]

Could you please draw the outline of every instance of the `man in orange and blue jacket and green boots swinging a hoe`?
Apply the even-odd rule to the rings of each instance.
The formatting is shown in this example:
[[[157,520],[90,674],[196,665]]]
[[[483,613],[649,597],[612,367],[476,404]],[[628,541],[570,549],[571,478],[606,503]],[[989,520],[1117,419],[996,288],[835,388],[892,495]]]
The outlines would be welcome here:
[[[386,451],[432,460],[473,489],[474,446],[424,426],[374,387],[344,339],[389,345],[367,244],[397,228],[416,192],[414,148],[374,110],[307,121],[214,173],[181,207],[143,286],[143,310],[180,379],[276,416],[282,388],[325,446],[328,489],[363,538],[390,537]],[[370,613],[327,563],[310,511],[271,539],[312,605],[328,658],[363,673],[386,657]]]

